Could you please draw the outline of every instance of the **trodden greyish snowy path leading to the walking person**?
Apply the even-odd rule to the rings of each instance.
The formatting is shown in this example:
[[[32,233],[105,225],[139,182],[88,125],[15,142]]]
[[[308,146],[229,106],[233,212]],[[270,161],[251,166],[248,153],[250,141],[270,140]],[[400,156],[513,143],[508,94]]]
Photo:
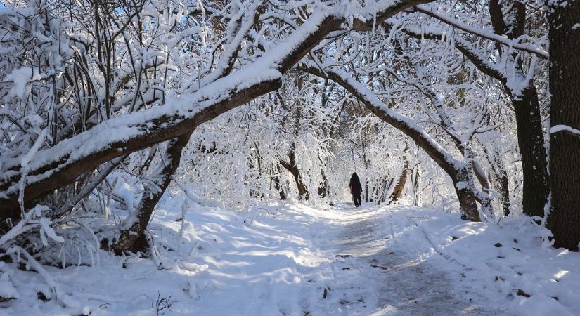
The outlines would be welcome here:
[[[375,209],[332,210],[342,217],[342,227],[327,245],[336,253],[329,285],[340,296],[344,315],[498,315],[458,298],[447,272],[401,247],[388,213]]]

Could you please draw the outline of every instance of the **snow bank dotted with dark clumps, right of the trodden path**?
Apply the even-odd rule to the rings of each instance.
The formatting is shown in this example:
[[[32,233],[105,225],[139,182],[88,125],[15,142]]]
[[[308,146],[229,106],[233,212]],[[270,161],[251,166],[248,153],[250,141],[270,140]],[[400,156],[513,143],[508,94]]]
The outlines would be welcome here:
[[[449,263],[450,272],[456,270],[453,265],[463,267],[460,283],[465,289],[510,298],[508,312],[552,315],[558,310],[558,315],[574,315],[579,308],[574,284],[580,275],[573,268],[579,254],[543,246],[543,230],[530,218],[504,219],[499,225],[468,223],[450,214],[409,209],[398,225],[403,227],[401,237],[423,234],[427,244],[418,244],[418,237],[414,248],[433,249],[440,254],[436,258]]]

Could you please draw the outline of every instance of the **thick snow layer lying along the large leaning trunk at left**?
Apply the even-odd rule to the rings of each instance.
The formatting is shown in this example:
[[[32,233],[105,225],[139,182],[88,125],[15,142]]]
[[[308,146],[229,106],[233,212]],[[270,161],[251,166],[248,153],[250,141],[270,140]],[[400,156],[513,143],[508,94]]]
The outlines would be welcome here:
[[[176,124],[184,119],[196,117],[202,110],[227,100],[233,94],[243,91],[252,85],[281,80],[282,73],[278,68],[292,66],[288,64],[288,59],[291,59],[292,53],[295,53],[309,35],[319,30],[327,16],[328,11],[314,13],[299,29],[276,45],[276,50],[269,51],[257,62],[243,67],[237,72],[212,81],[195,93],[183,93],[177,97],[168,96],[166,105],[119,115],[104,121],[102,124],[98,124],[89,131],[67,138],[54,147],[39,150],[34,160],[30,162],[30,173],[34,173],[34,171],[51,162],[58,162],[58,167],[35,176],[29,176],[27,182],[34,183],[43,180],[58,172],[58,170],[89,157],[99,150],[106,150],[111,144],[127,141],[146,133],[153,133],[153,131],[146,128],[146,122],[167,120],[169,121],[168,124]],[[22,70],[21,72],[25,71]],[[25,74],[30,74],[31,72],[32,70],[30,72],[26,71]],[[8,75],[8,77],[10,76],[12,74]],[[22,79],[24,77],[20,72],[13,74],[13,79],[18,79],[18,82],[24,82],[24,79]],[[17,85],[15,84],[14,86]],[[3,168],[8,170],[14,165],[15,162],[7,159]],[[11,174],[13,173],[5,172],[3,176],[0,176],[0,180],[6,180],[6,177]],[[0,198],[13,195],[17,190],[18,187],[11,185],[4,192],[0,192]]]

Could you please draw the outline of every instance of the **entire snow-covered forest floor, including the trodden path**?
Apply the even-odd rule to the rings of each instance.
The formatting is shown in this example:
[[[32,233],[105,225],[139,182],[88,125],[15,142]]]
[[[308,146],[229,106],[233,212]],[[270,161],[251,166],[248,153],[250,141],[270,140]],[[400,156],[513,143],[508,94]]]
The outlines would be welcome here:
[[[249,212],[166,198],[151,229],[157,256],[47,268],[78,303],[38,293],[36,272],[2,266],[5,315],[574,315],[580,254],[542,246],[522,219],[468,223],[407,206],[264,204]],[[12,285],[14,287],[12,287]],[[167,301],[166,301],[167,302]],[[162,304],[161,304],[162,305]]]

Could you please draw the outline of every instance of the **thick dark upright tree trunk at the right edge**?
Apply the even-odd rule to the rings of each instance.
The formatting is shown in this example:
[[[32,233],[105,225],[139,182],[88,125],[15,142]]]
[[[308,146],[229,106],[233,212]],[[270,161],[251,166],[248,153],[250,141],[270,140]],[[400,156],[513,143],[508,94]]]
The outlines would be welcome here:
[[[550,27],[550,183],[554,246],[580,243],[580,1],[546,1]],[[558,128],[558,127],[559,128]]]

